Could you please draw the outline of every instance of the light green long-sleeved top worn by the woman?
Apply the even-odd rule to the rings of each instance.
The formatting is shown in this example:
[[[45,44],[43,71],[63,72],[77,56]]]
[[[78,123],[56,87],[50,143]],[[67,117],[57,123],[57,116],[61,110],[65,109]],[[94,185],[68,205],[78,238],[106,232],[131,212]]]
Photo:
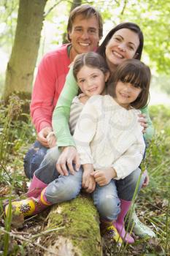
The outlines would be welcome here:
[[[78,93],[77,81],[73,75],[73,67],[69,69],[69,73],[66,76],[66,82],[61,91],[61,95],[58,99],[57,105],[53,112],[53,131],[57,138],[58,147],[61,146],[75,146],[74,139],[69,131],[69,114],[70,107],[72,104],[72,99]],[[144,133],[144,138],[150,140],[154,134],[154,129],[152,127],[152,121],[150,119],[149,111],[147,107],[141,109],[141,112],[146,114],[147,118],[147,130]]]

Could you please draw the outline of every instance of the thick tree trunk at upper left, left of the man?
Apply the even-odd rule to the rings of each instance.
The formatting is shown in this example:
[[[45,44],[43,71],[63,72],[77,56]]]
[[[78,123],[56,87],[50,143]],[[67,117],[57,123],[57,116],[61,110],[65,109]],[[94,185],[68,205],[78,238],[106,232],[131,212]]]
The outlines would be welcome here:
[[[47,0],[20,0],[15,41],[7,64],[4,98],[12,92],[31,96]]]

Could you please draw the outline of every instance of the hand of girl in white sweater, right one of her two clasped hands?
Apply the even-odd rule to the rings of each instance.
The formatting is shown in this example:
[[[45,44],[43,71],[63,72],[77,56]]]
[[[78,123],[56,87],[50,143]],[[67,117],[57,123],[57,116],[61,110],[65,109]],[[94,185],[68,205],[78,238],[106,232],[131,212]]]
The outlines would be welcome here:
[[[95,172],[90,174],[94,177],[96,183],[99,186],[105,186],[109,184],[112,178],[115,178],[117,176],[115,169],[112,167],[104,170],[96,170]]]

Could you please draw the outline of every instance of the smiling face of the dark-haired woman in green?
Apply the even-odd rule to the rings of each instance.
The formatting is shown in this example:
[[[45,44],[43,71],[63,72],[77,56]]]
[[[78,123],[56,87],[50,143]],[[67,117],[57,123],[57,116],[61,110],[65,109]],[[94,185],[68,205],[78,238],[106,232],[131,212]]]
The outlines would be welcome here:
[[[106,46],[106,59],[109,69],[115,67],[125,59],[134,59],[139,47],[139,36],[130,29],[120,29],[112,35]]]

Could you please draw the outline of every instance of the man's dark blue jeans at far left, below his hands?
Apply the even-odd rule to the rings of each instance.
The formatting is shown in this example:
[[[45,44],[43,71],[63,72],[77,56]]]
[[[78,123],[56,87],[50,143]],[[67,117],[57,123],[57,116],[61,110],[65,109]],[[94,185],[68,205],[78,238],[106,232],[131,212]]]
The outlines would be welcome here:
[[[34,172],[36,169],[39,168],[39,165],[47,154],[47,150],[48,148],[42,146],[42,144],[39,143],[39,141],[37,140],[28,150],[28,152],[26,153],[26,157],[24,157],[23,159],[24,172],[27,178],[30,179],[34,176]]]

